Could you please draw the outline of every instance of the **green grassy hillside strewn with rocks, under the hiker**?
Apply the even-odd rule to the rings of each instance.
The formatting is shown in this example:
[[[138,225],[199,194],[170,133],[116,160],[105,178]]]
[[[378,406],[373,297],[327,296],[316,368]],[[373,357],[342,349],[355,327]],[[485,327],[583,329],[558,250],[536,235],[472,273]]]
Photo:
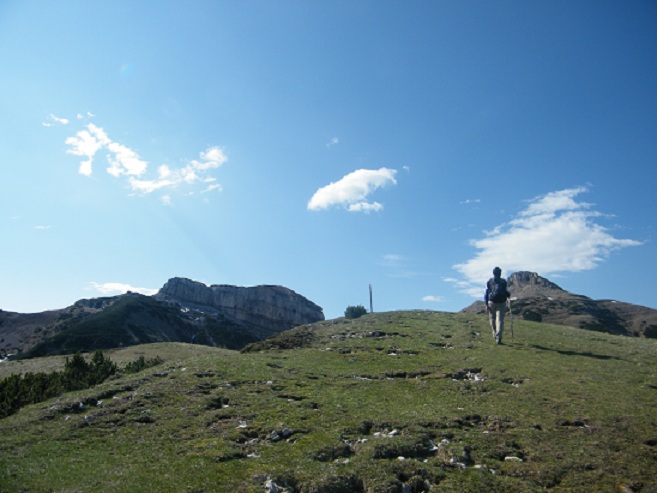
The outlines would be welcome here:
[[[657,341],[514,329],[393,312],[130,348],[165,363],[0,421],[0,489],[657,491]]]

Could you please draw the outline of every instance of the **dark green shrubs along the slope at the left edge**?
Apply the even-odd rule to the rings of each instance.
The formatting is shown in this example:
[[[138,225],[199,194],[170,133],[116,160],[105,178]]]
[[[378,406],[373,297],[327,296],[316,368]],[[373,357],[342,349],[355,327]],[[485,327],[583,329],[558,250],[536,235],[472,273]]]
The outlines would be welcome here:
[[[69,360],[66,358],[63,371],[50,373],[14,374],[0,380],[0,419],[16,413],[21,407],[36,404],[65,392],[83,390],[98,385],[112,375],[136,373],[161,363],[160,357],[145,360],[140,356],[119,370],[116,363],[97,350],[87,362],[79,353]]]

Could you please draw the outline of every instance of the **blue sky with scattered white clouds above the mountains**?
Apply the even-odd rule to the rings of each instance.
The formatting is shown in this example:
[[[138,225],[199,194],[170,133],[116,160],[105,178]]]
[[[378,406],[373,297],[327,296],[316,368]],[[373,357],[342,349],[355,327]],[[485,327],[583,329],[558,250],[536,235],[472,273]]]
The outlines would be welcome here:
[[[0,2],[0,308],[180,276],[657,308],[652,1]]]

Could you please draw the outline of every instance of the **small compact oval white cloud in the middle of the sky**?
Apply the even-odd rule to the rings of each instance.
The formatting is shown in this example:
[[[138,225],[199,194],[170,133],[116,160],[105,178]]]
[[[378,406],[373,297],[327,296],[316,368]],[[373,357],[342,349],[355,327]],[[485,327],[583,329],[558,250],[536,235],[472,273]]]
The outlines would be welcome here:
[[[368,202],[367,197],[378,188],[395,185],[397,170],[380,168],[378,170],[359,169],[330,183],[315,192],[308,202],[308,210],[317,211],[333,206],[341,206],[350,212],[380,211],[383,205]]]

